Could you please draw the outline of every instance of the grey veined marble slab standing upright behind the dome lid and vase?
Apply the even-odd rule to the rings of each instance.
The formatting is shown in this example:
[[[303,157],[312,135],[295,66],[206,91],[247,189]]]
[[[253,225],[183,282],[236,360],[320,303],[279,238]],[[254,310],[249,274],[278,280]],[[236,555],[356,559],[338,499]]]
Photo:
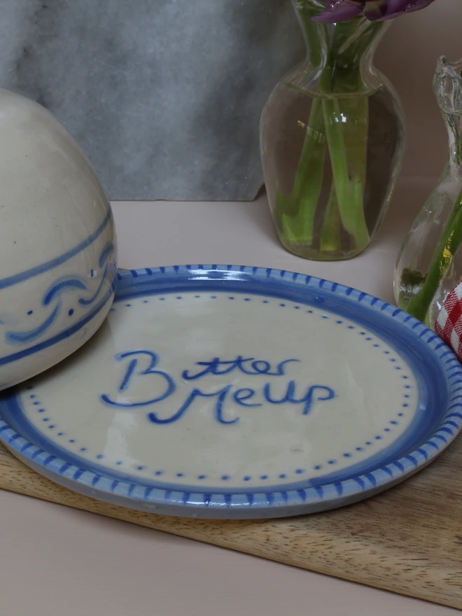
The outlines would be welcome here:
[[[303,55],[290,0],[0,0],[0,86],[71,131],[113,200],[247,200]]]

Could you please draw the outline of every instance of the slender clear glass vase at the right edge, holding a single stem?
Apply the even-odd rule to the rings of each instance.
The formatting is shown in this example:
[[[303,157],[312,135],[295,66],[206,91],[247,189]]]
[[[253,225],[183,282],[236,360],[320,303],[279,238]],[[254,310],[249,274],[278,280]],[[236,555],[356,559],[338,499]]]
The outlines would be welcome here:
[[[398,306],[430,328],[462,281],[462,59],[441,57],[433,88],[449,134],[449,156],[437,186],[402,244],[395,269]]]

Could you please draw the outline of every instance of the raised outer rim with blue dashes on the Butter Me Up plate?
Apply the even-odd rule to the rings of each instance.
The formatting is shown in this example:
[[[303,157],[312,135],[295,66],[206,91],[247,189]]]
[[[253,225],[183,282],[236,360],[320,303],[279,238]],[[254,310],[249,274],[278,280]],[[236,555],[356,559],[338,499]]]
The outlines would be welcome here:
[[[84,492],[92,489],[95,493],[102,493],[102,495],[106,493],[108,500],[111,500],[112,496],[113,498],[130,499],[134,506],[137,501],[144,501],[146,504],[162,503],[166,506],[183,508],[210,507],[212,509],[252,510],[268,507],[272,509],[275,507],[302,507],[326,503],[327,501],[335,502],[339,499],[351,499],[351,502],[353,502],[353,499],[359,500],[361,493],[369,491],[375,493],[384,490],[425,467],[440,455],[462,430],[462,367],[453,351],[421,321],[393,306],[393,304],[379,300],[363,291],[344,286],[341,283],[288,270],[245,265],[173,265],[119,271],[118,281],[125,281],[126,285],[125,295],[122,295],[119,300],[125,299],[127,293],[130,293],[131,281],[136,287],[137,283],[143,279],[157,279],[158,283],[162,283],[162,281],[172,281],[178,275],[188,276],[194,274],[194,272],[198,272],[198,274],[240,272],[248,276],[255,276],[255,279],[260,279],[260,281],[263,276],[266,279],[271,279],[273,283],[279,282],[282,284],[284,279],[290,279],[291,283],[300,284],[301,288],[335,293],[339,297],[348,298],[351,302],[362,303],[368,309],[381,312],[388,318],[395,319],[401,326],[414,330],[415,333],[417,333],[415,330],[419,330],[418,337],[422,339],[422,342],[429,345],[430,350],[440,360],[449,382],[449,406],[437,429],[418,449],[372,472],[344,479],[341,482],[289,489],[288,491],[262,489],[253,492],[230,491],[223,493],[223,491],[217,491],[216,493],[202,493],[195,491],[195,488],[191,488],[190,491],[183,489],[166,490],[163,487],[148,486],[142,482],[126,482],[115,479],[109,474],[104,475],[93,470],[79,468],[62,458],[49,454],[44,449],[26,440],[0,418],[0,440],[3,444],[20,458],[25,458],[25,461],[30,463],[31,466],[42,468],[44,475],[55,477],[58,483],[60,482],[59,477],[62,477],[62,481],[66,483],[75,483],[77,491],[80,487]],[[116,301],[118,300],[117,293],[116,290]],[[141,291],[134,293],[134,296],[140,294],[142,294]],[[355,496],[358,496],[358,498],[355,499]]]

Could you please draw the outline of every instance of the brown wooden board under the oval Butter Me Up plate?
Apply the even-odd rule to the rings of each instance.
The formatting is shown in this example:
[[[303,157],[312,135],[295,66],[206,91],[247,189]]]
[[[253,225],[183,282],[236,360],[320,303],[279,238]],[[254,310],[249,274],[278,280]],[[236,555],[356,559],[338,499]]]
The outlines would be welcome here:
[[[462,609],[462,437],[418,475],[342,510],[266,521],[162,517],[37,475],[0,445],[0,488]]]

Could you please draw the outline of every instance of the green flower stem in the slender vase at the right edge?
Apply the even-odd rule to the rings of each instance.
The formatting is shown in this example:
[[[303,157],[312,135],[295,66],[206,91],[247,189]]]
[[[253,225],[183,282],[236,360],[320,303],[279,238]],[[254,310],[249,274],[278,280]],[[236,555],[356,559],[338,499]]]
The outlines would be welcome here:
[[[462,192],[458,195],[451,216],[444,227],[440,241],[428,268],[428,274],[419,293],[412,297],[406,310],[419,321],[425,321],[433,297],[451,267],[452,260],[462,244]]]

